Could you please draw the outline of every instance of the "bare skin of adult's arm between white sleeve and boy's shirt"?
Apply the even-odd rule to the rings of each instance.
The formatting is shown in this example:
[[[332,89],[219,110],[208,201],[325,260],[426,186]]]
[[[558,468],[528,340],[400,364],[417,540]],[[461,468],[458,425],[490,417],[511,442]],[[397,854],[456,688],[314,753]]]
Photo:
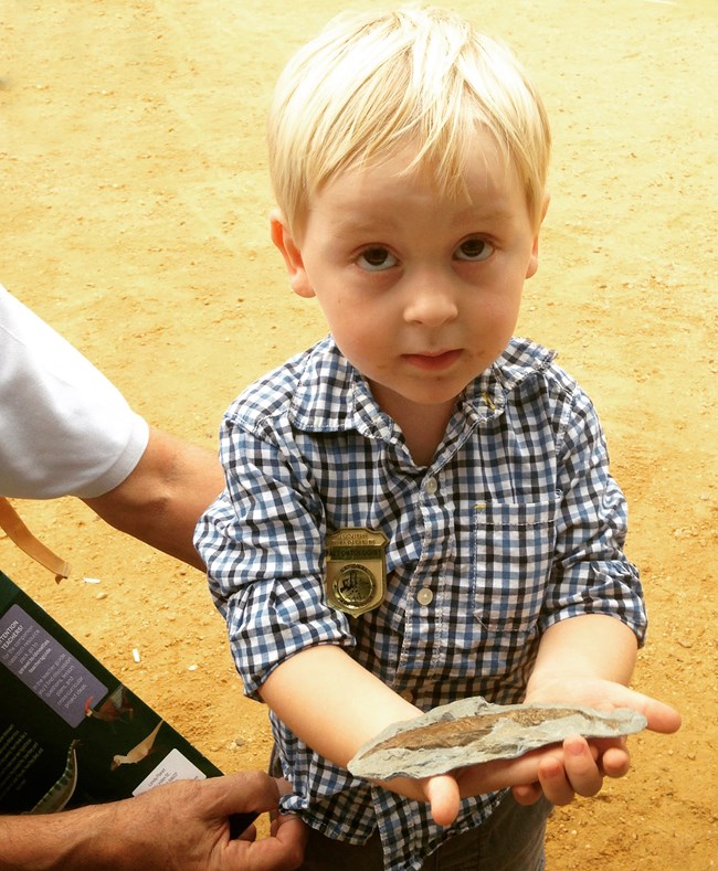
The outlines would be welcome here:
[[[83,501],[116,529],[204,571],[192,535],[223,486],[214,452],[150,427],[147,448],[127,478]]]

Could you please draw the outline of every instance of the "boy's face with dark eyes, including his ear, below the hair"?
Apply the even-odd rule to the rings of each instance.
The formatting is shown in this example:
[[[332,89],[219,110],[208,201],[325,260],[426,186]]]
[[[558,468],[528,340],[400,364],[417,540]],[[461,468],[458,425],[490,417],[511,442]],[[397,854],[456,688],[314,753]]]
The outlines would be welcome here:
[[[443,408],[508,343],[538,229],[493,139],[476,134],[468,198],[437,194],[411,155],[350,169],[312,198],[302,237],[272,235],[299,296],[316,296],[345,357],[393,417]],[[425,413],[430,408],[422,410]]]

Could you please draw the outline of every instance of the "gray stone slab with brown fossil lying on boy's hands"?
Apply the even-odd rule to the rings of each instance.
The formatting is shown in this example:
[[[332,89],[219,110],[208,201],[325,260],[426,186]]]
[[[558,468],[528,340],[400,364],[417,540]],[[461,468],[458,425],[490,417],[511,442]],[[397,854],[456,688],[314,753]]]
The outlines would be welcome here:
[[[481,697],[434,708],[394,723],[359,748],[356,777],[429,777],[492,760],[514,758],[571,735],[620,737],[646,727],[627,708],[599,711],[560,704],[492,704]]]

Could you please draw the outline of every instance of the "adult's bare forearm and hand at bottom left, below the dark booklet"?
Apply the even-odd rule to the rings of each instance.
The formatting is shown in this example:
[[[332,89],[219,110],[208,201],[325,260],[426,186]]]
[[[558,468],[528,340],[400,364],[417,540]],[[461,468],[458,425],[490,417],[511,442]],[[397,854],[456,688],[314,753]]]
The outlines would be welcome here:
[[[261,772],[181,780],[137,798],[43,816],[0,817],[0,869],[23,871],[291,871],[306,831],[296,817],[230,839],[230,814],[277,807],[276,780]]]

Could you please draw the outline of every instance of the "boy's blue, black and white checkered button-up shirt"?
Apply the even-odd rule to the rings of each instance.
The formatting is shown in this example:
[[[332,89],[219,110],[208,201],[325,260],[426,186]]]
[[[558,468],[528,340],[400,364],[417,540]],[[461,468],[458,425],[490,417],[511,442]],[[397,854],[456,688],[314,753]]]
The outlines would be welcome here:
[[[508,704],[558,620],[613,615],[643,641],[625,501],[591,402],[552,359],[513,340],[464,391],[429,467],[331,338],[232,404],[226,490],[197,544],[247,695],[288,657],[334,644],[423,710],[469,695]],[[357,527],[389,540],[388,591],[350,619],[327,605],[325,543]],[[391,871],[419,869],[503,797],[466,799],[443,829],[426,806],[352,778],[272,721],[295,790],[284,810],[353,843],[378,827]]]

